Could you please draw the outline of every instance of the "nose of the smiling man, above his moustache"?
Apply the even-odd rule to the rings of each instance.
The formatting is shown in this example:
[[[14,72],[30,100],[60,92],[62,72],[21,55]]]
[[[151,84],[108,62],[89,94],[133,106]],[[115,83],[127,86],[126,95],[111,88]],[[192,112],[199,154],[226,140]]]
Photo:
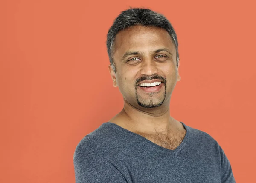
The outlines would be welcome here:
[[[141,64],[140,74],[151,76],[157,74],[157,63],[153,59],[144,59]]]

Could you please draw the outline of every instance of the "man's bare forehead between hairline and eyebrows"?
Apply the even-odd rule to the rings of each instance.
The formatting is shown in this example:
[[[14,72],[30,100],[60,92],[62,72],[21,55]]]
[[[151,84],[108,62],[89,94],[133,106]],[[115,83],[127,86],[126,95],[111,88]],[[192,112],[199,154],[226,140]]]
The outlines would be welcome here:
[[[165,29],[155,26],[131,26],[117,33],[113,57],[122,56],[126,51],[147,53],[162,48],[175,50],[172,38]]]

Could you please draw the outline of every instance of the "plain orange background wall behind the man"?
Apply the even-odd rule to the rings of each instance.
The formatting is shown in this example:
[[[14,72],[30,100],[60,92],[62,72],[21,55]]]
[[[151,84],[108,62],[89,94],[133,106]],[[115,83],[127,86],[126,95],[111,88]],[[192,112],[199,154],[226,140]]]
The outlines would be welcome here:
[[[123,106],[105,42],[129,6],[164,14],[177,32],[171,115],[218,141],[238,183],[255,181],[253,0],[1,0],[1,183],[75,182],[76,145]]]

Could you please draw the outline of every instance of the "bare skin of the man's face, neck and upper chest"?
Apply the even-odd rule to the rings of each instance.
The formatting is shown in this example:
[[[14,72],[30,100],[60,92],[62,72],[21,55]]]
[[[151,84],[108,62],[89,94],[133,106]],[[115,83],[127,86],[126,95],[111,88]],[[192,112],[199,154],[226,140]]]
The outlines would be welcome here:
[[[163,51],[156,53],[156,50]],[[180,75],[175,45],[168,32],[154,26],[131,26],[119,31],[114,43],[113,60],[116,73],[111,65],[108,68],[113,86],[118,87],[123,95],[124,108],[110,122],[160,146],[175,149],[186,130],[170,116],[170,99]],[[156,75],[166,80],[159,92],[149,94],[137,86],[138,79],[151,79]],[[151,108],[139,105],[137,100],[143,105],[151,105]],[[174,146],[168,146],[170,143],[166,144],[167,141]]]

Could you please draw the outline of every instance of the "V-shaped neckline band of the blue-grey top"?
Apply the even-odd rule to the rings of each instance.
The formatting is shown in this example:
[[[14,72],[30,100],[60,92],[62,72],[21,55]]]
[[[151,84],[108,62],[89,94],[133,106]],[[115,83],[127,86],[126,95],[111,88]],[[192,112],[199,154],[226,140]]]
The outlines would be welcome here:
[[[186,143],[188,142],[188,139],[189,139],[189,136],[190,136],[190,129],[189,129],[189,127],[186,126],[186,124],[184,124],[184,123],[181,122],[181,121],[180,121],[180,123],[181,123],[181,124],[184,126],[184,128],[186,129],[186,134],[185,134],[185,137],[183,138],[182,142],[180,143],[180,145],[177,146],[177,148],[174,149],[174,150],[167,149],[167,148],[164,148],[164,147],[162,147],[162,146],[159,146],[158,144],[156,144],[156,143],[154,143],[154,142],[148,140],[147,138],[145,138],[145,137],[143,137],[143,136],[141,136],[141,135],[139,135],[139,134],[136,134],[136,133],[134,133],[134,132],[131,132],[131,131],[129,131],[128,129],[125,129],[125,128],[123,128],[123,127],[117,125],[116,123],[112,123],[112,122],[108,121],[108,122],[106,122],[105,124],[109,124],[109,125],[111,125],[113,128],[118,129],[118,130],[122,130],[122,131],[125,132],[125,133],[132,134],[133,136],[140,138],[140,139],[143,140],[144,142],[153,145],[153,146],[156,147],[157,149],[160,149],[160,150],[165,151],[165,152],[177,154],[177,152],[179,152],[181,149],[183,149],[183,148],[186,146]]]

